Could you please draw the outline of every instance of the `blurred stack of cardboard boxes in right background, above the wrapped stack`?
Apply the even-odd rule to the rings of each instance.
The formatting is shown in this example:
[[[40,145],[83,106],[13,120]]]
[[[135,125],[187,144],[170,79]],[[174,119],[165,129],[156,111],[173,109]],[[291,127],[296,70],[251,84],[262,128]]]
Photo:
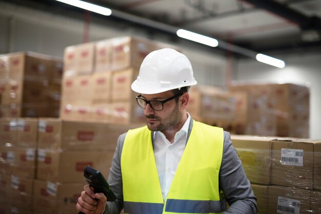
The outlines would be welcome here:
[[[310,89],[297,84],[234,84],[235,134],[309,137]]]

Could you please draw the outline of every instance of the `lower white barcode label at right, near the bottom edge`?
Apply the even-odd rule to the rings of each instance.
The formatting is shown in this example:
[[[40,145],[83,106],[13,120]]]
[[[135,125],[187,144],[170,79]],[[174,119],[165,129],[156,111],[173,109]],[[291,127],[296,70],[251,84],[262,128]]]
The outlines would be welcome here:
[[[300,201],[278,197],[277,199],[277,213],[283,214],[299,214]]]

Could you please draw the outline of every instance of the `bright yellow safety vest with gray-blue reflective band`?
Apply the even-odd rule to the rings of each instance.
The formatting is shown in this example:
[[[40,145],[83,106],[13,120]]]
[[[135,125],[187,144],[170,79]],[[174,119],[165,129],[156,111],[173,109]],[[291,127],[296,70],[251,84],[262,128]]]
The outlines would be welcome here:
[[[124,210],[129,214],[220,213],[218,188],[223,129],[193,121],[165,204],[147,126],[129,130],[122,151]]]

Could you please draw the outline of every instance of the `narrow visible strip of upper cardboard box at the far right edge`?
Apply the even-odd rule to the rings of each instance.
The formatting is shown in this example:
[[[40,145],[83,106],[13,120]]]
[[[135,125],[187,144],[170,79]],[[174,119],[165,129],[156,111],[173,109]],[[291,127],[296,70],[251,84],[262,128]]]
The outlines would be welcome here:
[[[313,152],[313,189],[321,190],[321,140],[315,142]]]

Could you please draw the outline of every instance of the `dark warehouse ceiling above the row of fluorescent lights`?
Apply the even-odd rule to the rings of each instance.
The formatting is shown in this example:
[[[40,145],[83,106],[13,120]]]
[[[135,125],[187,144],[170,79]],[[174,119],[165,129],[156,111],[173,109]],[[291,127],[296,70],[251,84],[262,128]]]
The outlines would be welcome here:
[[[256,52],[321,51],[321,0],[86,1],[110,8],[112,15],[106,19],[125,20],[149,32],[176,36],[176,29],[182,28]],[[44,10],[47,5],[48,12],[72,8],[54,0],[9,2]]]

